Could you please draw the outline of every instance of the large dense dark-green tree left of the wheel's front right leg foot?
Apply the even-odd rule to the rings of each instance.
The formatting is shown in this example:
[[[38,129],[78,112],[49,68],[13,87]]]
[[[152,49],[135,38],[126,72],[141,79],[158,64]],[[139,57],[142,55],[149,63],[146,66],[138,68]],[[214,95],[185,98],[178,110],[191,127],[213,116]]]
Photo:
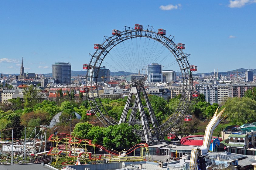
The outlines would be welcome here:
[[[140,142],[139,136],[133,132],[133,127],[128,124],[122,123],[104,129],[103,145],[106,148],[122,150],[131,148]]]

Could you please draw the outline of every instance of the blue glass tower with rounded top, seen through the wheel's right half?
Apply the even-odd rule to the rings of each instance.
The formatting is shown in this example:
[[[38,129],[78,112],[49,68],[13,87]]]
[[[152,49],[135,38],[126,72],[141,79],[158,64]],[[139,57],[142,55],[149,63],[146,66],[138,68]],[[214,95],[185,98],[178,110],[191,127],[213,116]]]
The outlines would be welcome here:
[[[147,81],[151,83],[162,82],[162,65],[157,63],[148,64]]]

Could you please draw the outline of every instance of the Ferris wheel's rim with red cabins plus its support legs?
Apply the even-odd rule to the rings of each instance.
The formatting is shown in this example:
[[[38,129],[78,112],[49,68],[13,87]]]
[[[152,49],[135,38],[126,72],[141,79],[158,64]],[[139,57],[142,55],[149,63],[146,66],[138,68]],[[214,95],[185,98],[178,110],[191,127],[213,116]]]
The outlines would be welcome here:
[[[131,91],[128,95],[128,100],[126,101],[124,110],[121,114],[121,118],[119,121],[112,118],[106,109],[104,108],[103,104],[101,103],[100,95],[93,95],[93,97],[89,96],[89,92],[92,88],[88,90],[87,98],[89,100],[89,104],[91,106],[91,110],[87,111],[87,115],[95,115],[97,119],[105,126],[121,124],[121,123],[128,123],[131,126],[138,126],[140,125],[140,129],[135,131],[138,134],[142,141],[145,141],[147,144],[152,144],[157,141],[163,139],[164,135],[167,134],[170,129],[172,129],[175,124],[182,120],[182,117],[185,114],[186,108],[188,107],[190,100],[192,97],[198,97],[199,92],[193,91],[193,77],[192,72],[197,71],[197,66],[190,65],[187,57],[190,54],[183,53],[183,49],[185,49],[185,44],[178,43],[176,44],[173,42],[174,36],[165,36],[166,30],[165,29],[158,29],[157,32],[152,30],[151,26],[148,26],[147,29],[143,29],[143,26],[140,24],[135,24],[134,29],[130,29],[130,27],[125,26],[124,31],[119,31],[117,29],[112,30],[112,36],[107,37],[104,36],[106,39],[101,44],[94,44],[94,49],[96,51],[94,54],[91,55],[91,60],[89,64],[84,64],[83,68],[87,70],[86,73],[86,89],[87,86],[90,84],[94,84],[93,80],[96,78],[97,84],[97,77],[99,74],[99,68],[101,63],[104,61],[107,54],[110,51],[128,39],[133,38],[149,38],[156,42],[159,42],[164,47],[169,50],[175,59],[176,62],[179,64],[180,72],[181,72],[181,79],[183,82],[183,90],[181,94],[181,99],[179,102],[179,106],[177,107],[176,111],[167,118],[167,120],[159,124],[155,117],[155,113],[152,110],[152,106],[148,99],[148,96],[145,92],[144,88],[144,81],[145,80],[133,80],[133,84],[131,85]],[[92,70],[91,70],[92,69]],[[89,71],[91,70],[89,74]],[[97,88],[98,86],[96,86]],[[98,93],[98,89],[96,90]],[[142,99],[139,94],[143,94],[143,100],[145,100],[146,106],[142,105]],[[96,97],[97,96],[97,97]],[[135,96],[135,101],[131,103],[131,98]],[[145,114],[145,110],[148,113]],[[129,114],[128,114],[129,113]],[[187,119],[190,121],[192,118]],[[168,138],[175,138],[173,134],[169,133]]]

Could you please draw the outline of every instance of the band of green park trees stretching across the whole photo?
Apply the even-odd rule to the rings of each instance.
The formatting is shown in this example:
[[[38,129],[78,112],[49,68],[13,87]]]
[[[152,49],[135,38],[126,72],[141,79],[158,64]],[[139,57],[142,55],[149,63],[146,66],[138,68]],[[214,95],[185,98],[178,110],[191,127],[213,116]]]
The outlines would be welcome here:
[[[95,116],[87,116],[86,111],[90,110],[90,104],[82,94],[75,100],[75,92],[57,92],[56,100],[41,100],[40,91],[33,86],[23,89],[24,101],[17,97],[9,99],[8,102],[0,104],[0,131],[1,138],[9,139],[12,135],[12,128],[15,128],[14,137],[24,137],[24,127],[27,127],[27,133],[32,133],[33,128],[40,125],[49,125],[52,118],[62,111],[60,122],[56,124],[58,132],[71,134],[77,138],[90,139],[93,144],[100,144],[107,148],[121,149],[131,147],[140,143],[139,137],[133,132],[133,127],[127,124],[102,127],[102,124],[95,121]],[[156,115],[159,124],[166,121],[179,105],[180,95],[164,100],[156,95],[148,95],[152,109]],[[142,98],[142,104],[145,100]],[[98,99],[97,99],[98,100]],[[102,98],[101,103],[104,107],[99,107],[102,111],[106,110],[108,114],[118,121],[125,107],[127,97],[107,99]],[[131,99],[133,104],[135,98]],[[99,102],[99,101],[96,101]],[[172,129],[177,135],[188,136],[195,133],[203,133],[204,128],[218,104],[210,104],[205,101],[203,94],[193,98],[191,104],[186,110],[186,114],[193,115],[193,121],[179,121]],[[225,121],[229,125],[242,125],[256,121],[256,88],[245,92],[244,97],[230,97],[225,99],[222,108],[226,107],[225,113],[228,117]],[[74,112],[81,115],[81,119],[76,119]],[[128,115],[130,112],[128,112]],[[145,109],[148,115],[148,110]],[[70,120],[71,115],[71,120]],[[204,121],[204,122],[203,122]],[[29,128],[30,127],[30,128]],[[223,125],[221,126],[223,127]],[[221,127],[217,128],[216,135],[220,135]],[[53,127],[55,128],[55,127]],[[3,129],[9,129],[2,131]],[[52,134],[53,129],[48,130],[48,135]]]

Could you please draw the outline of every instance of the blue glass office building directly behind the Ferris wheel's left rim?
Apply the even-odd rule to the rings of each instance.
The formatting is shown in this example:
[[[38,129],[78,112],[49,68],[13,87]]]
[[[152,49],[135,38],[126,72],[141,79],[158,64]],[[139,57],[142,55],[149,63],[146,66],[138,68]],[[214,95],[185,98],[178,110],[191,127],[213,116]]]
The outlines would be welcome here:
[[[106,69],[105,66],[103,67],[95,67],[94,72],[92,72],[93,69],[90,69],[90,75],[93,74],[93,81],[96,82],[108,82],[110,81],[110,72],[109,69]]]

